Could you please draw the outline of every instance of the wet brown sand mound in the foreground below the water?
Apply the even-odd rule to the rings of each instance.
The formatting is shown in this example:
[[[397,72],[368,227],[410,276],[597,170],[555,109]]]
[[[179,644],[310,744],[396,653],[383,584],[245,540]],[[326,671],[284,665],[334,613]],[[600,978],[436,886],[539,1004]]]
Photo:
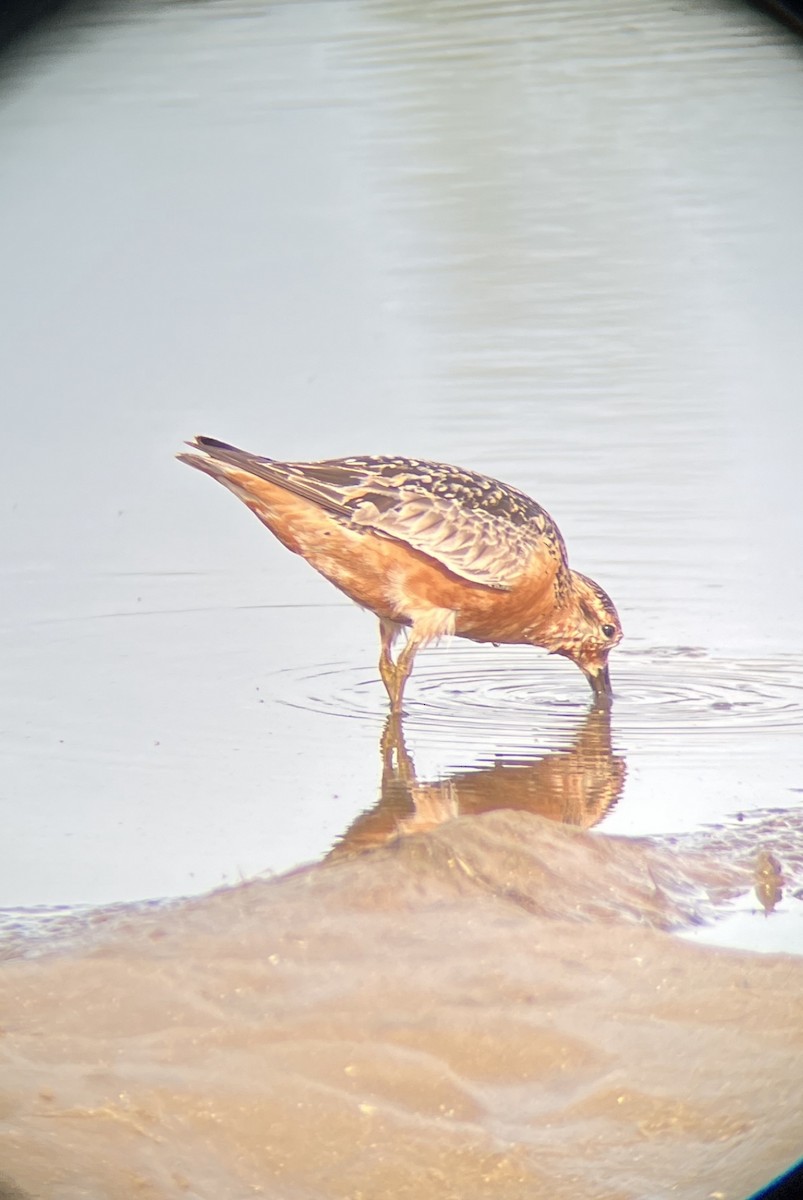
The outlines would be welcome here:
[[[672,932],[737,859],[495,811],[98,910],[0,976],[5,1194],[747,1196],[799,1153],[803,960]]]

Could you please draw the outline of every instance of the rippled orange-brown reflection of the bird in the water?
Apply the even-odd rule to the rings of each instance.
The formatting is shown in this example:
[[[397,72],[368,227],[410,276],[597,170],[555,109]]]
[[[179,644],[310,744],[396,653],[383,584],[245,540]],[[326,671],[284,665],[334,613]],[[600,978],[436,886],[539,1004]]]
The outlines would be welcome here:
[[[342,858],[394,838],[423,833],[454,817],[517,809],[589,829],[622,794],[627,767],[611,745],[611,707],[589,708],[573,744],[538,757],[496,760],[489,767],[419,780],[405,744],[402,718],[391,713],[382,742],[382,788],[373,809],[360,814],[329,853]]]

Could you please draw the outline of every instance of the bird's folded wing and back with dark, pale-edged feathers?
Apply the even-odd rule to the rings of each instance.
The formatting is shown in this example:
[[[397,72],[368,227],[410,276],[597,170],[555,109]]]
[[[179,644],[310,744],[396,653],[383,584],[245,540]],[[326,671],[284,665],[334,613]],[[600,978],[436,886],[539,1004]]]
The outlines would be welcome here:
[[[567,565],[550,515],[523,492],[475,472],[370,456],[276,462],[211,438],[194,445],[338,521],[405,542],[472,583],[509,590],[525,574],[546,581]]]

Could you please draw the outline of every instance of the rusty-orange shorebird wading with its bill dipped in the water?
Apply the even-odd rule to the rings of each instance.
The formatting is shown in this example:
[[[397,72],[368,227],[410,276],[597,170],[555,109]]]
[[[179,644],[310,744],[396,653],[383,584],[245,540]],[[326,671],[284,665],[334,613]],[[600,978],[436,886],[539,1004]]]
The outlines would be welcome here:
[[[187,445],[194,452],[181,462],[228,487],[282,545],[376,613],[392,712],[417,652],[448,634],[562,654],[597,697],[610,697],[617,611],[569,569],[561,530],[523,492],[418,458],[277,462],[215,438]]]

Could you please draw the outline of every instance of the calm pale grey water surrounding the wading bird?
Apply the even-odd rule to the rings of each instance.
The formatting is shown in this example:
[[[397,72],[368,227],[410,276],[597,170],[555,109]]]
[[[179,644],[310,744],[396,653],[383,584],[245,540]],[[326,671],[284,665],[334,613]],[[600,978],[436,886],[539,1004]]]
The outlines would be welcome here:
[[[376,622],[173,461],[196,432],[485,470],[613,595],[610,722],[539,652],[423,653],[408,799],[695,844],[786,814],[789,871],[792,35],[725,0],[78,6],[0,101],[0,905],[397,827]],[[733,938],[803,948],[792,893]]]

